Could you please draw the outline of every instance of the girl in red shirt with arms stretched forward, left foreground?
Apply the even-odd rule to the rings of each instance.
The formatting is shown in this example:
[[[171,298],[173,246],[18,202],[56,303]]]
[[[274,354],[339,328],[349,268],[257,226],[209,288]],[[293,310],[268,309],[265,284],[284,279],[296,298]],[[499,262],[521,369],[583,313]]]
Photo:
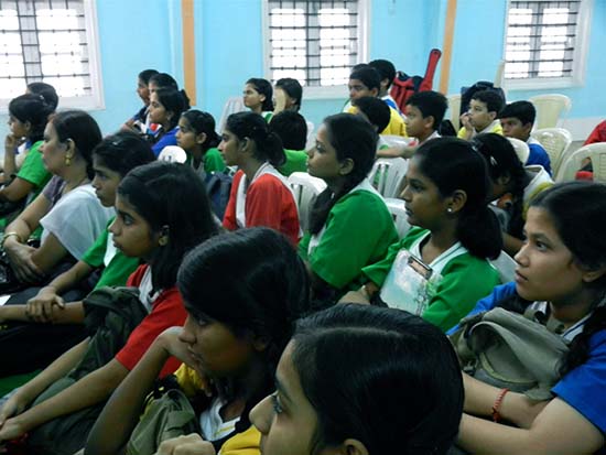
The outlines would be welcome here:
[[[66,429],[66,434],[57,432],[51,440],[43,438],[43,429],[40,433],[37,429],[80,410],[100,412],[102,403],[134,368],[156,336],[185,322],[183,302],[175,288],[178,266],[187,251],[217,229],[203,182],[183,164],[159,162],[140,166],[129,172],[120,183],[116,213],[109,227],[113,243],[123,254],[145,262],[127,284],[139,288],[141,303],[149,314],[112,360],[57,394],[45,397],[44,401],[32,407],[42,392],[78,365],[89,338],[18,389],[0,410],[0,441],[29,433],[26,443],[43,453],[73,454],[80,449],[94,423],[88,419],[82,420],[76,431]],[[177,366],[176,359],[169,360],[160,376],[173,372]]]

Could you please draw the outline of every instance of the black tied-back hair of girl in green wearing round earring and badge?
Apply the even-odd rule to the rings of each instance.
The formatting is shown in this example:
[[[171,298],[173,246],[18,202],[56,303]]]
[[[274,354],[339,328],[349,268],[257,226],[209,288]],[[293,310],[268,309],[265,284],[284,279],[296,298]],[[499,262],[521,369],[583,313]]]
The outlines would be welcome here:
[[[456,189],[466,193],[467,201],[458,213],[456,238],[473,256],[496,259],[502,249],[502,235],[487,205],[490,182],[483,156],[467,141],[437,138],[423,143],[413,160],[442,197]]]

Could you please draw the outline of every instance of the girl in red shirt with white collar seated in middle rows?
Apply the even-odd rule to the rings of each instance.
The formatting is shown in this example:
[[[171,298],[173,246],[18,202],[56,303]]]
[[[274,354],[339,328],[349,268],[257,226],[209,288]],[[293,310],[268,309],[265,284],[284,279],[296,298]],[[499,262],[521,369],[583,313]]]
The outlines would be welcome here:
[[[238,166],[223,226],[229,230],[267,226],[299,242],[299,214],[292,189],[277,171],[285,162],[278,134],[255,112],[227,118],[219,143],[225,164]]]

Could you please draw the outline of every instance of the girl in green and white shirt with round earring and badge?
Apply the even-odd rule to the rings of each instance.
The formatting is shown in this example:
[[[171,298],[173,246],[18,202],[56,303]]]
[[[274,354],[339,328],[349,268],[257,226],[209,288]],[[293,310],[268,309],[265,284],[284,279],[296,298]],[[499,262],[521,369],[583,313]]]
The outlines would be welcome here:
[[[365,267],[366,284],[343,300],[387,304],[451,328],[499,283],[488,259],[499,256],[502,240],[488,194],[486,163],[468,143],[425,142],[401,195],[415,227],[385,259]]]

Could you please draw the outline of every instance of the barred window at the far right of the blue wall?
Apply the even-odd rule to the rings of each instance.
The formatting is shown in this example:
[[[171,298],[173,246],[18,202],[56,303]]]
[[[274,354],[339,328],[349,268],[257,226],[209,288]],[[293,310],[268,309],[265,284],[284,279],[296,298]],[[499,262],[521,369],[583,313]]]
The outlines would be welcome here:
[[[508,83],[578,84],[584,75],[589,2],[510,1],[505,44]]]

